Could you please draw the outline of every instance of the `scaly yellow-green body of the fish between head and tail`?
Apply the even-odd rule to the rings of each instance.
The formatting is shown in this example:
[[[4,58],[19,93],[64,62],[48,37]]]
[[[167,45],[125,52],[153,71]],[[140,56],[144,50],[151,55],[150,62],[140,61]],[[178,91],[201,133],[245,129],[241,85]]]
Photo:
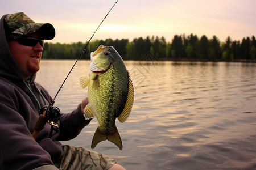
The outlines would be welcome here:
[[[118,73],[113,66],[110,69],[98,76],[100,86],[98,90],[91,90],[93,87],[93,79],[97,73],[90,72],[90,86],[88,87],[88,100],[92,101],[91,105],[94,108],[99,128],[102,133],[114,133],[115,118],[123,111],[125,101],[127,99],[127,75]],[[120,79],[119,81],[116,81]],[[96,102],[100,101],[100,102]]]

